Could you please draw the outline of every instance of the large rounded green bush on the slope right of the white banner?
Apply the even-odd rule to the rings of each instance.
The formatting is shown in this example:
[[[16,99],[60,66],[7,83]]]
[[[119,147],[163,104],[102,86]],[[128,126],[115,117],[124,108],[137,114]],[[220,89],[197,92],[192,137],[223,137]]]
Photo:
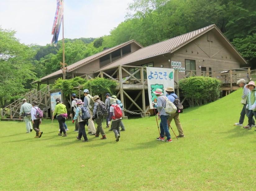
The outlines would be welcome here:
[[[192,107],[217,100],[220,96],[221,84],[216,78],[203,76],[189,77],[179,82],[182,93]]]

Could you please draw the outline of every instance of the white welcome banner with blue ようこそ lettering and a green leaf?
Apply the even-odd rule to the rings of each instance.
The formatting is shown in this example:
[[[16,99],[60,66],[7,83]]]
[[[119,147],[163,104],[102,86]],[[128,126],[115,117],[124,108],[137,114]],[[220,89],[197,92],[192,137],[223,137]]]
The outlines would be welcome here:
[[[167,87],[174,88],[174,70],[171,68],[155,68],[147,67],[147,80],[149,91],[149,105],[150,109],[153,109],[152,103],[157,102],[157,96],[153,93],[157,88],[164,91]]]

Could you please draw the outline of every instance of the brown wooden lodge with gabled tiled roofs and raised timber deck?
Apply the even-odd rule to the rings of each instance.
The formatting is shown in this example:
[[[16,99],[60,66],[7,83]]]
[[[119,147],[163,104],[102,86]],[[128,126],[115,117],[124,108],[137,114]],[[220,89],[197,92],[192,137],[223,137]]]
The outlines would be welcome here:
[[[117,96],[124,108],[144,113],[149,106],[146,67],[175,69],[175,89],[179,93],[178,81],[189,76],[216,77],[228,84],[223,90],[237,89],[234,85],[238,79],[249,80],[250,69],[241,68],[246,64],[213,24],[147,47],[131,40],[103,50],[67,66],[66,79],[99,76],[116,80]],[[52,84],[60,77],[62,70],[34,83]]]

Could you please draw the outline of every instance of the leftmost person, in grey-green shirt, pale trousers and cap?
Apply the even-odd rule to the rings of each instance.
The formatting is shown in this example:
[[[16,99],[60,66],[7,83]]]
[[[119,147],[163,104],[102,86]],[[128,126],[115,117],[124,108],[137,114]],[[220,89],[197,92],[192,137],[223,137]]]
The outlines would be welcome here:
[[[20,110],[20,119],[21,116],[23,116],[23,119],[26,124],[26,133],[30,133],[32,131],[32,125],[31,125],[31,108],[32,105],[30,103],[27,103],[27,100],[24,98],[22,99],[23,104],[21,105],[21,110]]]

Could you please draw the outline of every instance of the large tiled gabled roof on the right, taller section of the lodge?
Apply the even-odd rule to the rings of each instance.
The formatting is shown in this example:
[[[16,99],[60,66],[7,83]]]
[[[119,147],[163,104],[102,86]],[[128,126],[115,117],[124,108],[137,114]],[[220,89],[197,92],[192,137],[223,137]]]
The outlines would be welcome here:
[[[221,33],[221,31],[216,27],[216,25],[213,24],[208,27],[204,27],[199,30],[183,34],[181,36],[174,37],[174,38],[168,39],[166,41],[158,42],[156,44],[141,48],[133,53],[128,54],[125,57],[122,57],[122,58],[116,60],[115,62],[108,64],[105,67],[100,68],[98,71],[107,70],[110,68],[117,67],[119,65],[134,63],[134,62],[137,62],[140,60],[149,59],[151,57],[155,57],[155,56],[162,55],[162,54],[173,53],[174,51],[180,49],[182,46],[185,46],[190,41],[200,37],[201,35],[203,35],[204,33],[207,33],[208,31],[212,30],[213,28],[216,28],[217,31],[219,33]],[[224,37],[226,43],[228,43],[231,46],[231,48],[240,56],[240,58],[245,63],[247,63],[246,60],[235,49],[235,47],[226,39],[226,37],[222,33],[221,33],[221,35]],[[98,72],[98,71],[96,71],[96,72]]]

